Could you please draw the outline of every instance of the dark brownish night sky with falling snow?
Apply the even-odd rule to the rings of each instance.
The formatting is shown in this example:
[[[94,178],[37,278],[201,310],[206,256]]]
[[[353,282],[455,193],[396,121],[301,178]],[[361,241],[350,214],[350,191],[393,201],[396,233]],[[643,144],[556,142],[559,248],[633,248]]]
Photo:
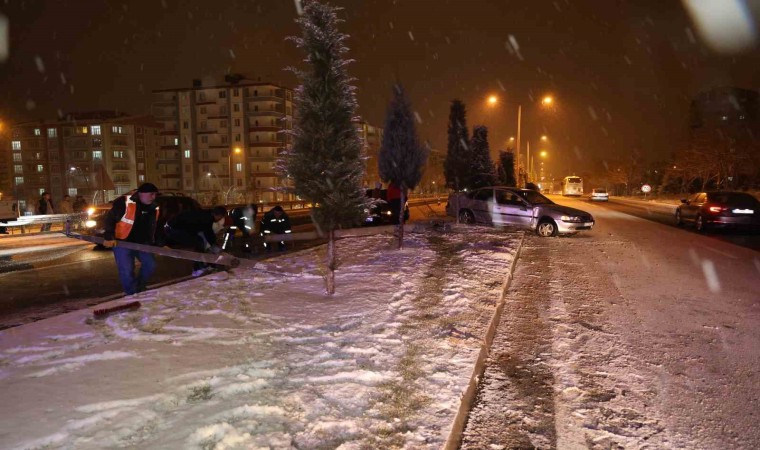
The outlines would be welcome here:
[[[398,79],[422,121],[421,138],[444,152],[449,102],[459,98],[470,128],[489,127],[494,152],[515,135],[522,104],[523,149],[547,134],[540,148],[552,171],[583,170],[634,149],[665,160],[685,144],[693,95],[760,88],[758,47],[711,50],[678,1],[332,4],[345,8],[359,113],[382,126]],[[295,86],[283,68],[302,59],[285,41],[298,33],[289,0],[0,0],[0,12],[10,24],[0,114],[10,122],[58,111],[149,113],[152,90],[210,83],[227,71]],[[497,107],[486,105],[490,94],[500,97]],[[538,107],[546,94],[556,99],[552,111]]]

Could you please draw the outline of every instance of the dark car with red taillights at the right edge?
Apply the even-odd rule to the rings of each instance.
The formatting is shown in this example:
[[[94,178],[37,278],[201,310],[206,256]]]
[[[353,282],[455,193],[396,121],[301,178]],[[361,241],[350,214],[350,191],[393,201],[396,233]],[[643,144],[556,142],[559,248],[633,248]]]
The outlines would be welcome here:
[[[760,229],[760,202],[746,192],[699,192],[681,200],[676,224],[693,223],[697,231],[708,228]]]

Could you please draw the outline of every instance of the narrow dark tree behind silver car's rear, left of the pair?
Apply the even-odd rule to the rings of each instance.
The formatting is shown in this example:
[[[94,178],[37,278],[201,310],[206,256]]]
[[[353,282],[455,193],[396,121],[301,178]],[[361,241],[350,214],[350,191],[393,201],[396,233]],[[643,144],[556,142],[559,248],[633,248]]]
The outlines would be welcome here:
[[[467,166],[470,160],[470,137],[467,131],[467,111],[461,100],[451,101],[449,112],[449,142],[443,174],[446,187],[460,191],[467,186]]]

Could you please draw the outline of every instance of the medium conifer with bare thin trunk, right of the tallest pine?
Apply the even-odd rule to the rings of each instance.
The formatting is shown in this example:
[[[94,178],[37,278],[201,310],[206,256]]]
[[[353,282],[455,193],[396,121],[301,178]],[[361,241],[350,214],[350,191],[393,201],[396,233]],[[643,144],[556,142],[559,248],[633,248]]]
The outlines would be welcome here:
[[[383,143],[378,155],[380,178],[401,190],[398,248],[404,242],[404,205],[409,190],[417,187],[427,162],[428,151],[420,145],[412,106],[403,86],[396,84],[388,106]]]

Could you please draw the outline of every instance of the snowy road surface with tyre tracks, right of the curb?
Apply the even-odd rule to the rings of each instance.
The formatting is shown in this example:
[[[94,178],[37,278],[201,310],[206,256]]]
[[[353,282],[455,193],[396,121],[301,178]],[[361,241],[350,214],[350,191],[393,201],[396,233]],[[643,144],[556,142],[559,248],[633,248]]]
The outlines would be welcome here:
[[[760,253],[559,199],[526,238],[462,448],[759,448]]]

